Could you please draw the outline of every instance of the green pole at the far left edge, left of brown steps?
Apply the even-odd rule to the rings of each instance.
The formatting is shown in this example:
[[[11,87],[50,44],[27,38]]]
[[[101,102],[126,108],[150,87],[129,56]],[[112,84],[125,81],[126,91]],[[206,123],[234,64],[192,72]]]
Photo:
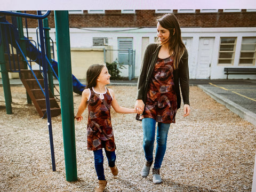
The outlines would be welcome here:
[[[0,28],[0,30],[2,29]],[[6,114],[12,114],[11,86],[10,86],[8,71],[6,70],[6,66],[5,66],[3,34],[0,34],[0,38],[1,38],[0,39],[0,66],[1,66],[2,82],[3,82],[3,89],[4,89]]]

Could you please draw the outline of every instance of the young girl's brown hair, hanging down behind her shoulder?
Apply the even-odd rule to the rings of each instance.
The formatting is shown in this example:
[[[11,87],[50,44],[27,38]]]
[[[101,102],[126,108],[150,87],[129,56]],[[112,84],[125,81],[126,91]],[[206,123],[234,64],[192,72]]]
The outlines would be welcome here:
[[[87,69],[87,72],[86,72],[87,88],[91,88],[97,85],[97,78],[99,77],[103,67],[105,67],[105,65],[94,64]]]

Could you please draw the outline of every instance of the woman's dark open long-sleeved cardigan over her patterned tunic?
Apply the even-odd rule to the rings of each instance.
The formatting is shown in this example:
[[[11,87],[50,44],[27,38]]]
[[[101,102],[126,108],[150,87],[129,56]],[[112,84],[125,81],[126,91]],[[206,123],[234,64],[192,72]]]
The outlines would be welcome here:
[[[138,79],[138,91],[137,99],[142,99],[146,103],[148,85],[151,81],[151,76],[157,62],[158,53],[160,50],[158,44],[149,44],[144,53],[144,57],[141,63],[140,76]],[[173,71],[175,92],[177,95],[177,104],[180,108],[181,97],[180,97],[180,88],[182,92],[182,99],[184,104],[189,105],[189,74],[188,74],[188,51],[185,50],[178,69]],[[180,86],[179,86],[180,85]]]

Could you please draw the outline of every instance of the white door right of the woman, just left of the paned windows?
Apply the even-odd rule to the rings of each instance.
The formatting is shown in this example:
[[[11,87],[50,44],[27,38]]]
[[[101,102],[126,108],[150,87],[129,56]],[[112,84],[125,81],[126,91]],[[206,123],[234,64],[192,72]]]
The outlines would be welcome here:
[[[199,38],[197,67],[196,67],[197,79],[211,78],[213,43],[214,43],[214,38],[209,38],[209,37]]]

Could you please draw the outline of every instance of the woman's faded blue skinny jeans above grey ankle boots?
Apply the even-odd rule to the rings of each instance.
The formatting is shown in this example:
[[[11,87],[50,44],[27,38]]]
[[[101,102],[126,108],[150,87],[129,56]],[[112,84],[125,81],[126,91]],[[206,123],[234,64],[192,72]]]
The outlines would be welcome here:
[[[143,149],[145,152],[145,158],[148,162],[153,162],[153,150],[156,133],[156,154],[154,169],[160,169],[164,154],[166,151],[167,134],[169,131],[170,123],[157,123],[156,133],[156,121],[153,118],[143,118]]]

